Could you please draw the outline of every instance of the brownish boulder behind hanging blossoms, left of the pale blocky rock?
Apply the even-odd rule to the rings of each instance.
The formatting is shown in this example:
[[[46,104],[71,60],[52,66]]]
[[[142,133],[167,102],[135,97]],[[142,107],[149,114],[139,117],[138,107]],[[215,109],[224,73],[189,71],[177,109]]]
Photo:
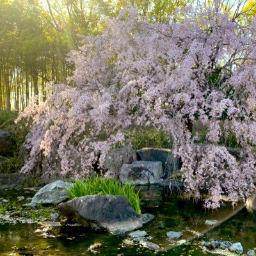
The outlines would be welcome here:
[[[136,152],[131,146],[115,148],[106,156],[104,169],[107,170],[108,177],[118,178],[122,165],[136,160]]]

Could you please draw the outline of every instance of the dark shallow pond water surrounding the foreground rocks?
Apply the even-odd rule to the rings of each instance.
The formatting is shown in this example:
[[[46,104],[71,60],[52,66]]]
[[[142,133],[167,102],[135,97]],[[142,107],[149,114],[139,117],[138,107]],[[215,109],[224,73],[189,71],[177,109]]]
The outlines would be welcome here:
[[[26,193],[29,196],[35,192]],[[24,195],[24,191],[0,191],[0,198],[8,200],[17,198],[17,195]],[[253,249],[256,244],[256,214],[244,207],[232,209],[227,205],[218,211],[205,211],[202,204],[182,200],[177,195],[170,196],[157,186],[144,187],[141,196],[142,212],[154,214],[156,218],[140,230],[145,230],[153,237],[150,242],[161,247],[162,251],[157,255],[205,255],[198,243],[210,238],[240,242],[244,251]],[[218,220],[220,225],[212,228],[204,224],[205,220]],[[92,255],[88,248],[95,243],[101,244],[95,249],[100,255],[156,255],[138,244],[125,244],[127,234],[115,236],[82,227],[63,226],[53,228],[52,237],[43,237],[35,232],[38,228],[42,228],[40,223],[0,224],[0,255]],[[172,230],[182,231],[180,239],[190,242],[180,246],[170,244],[166,232]]]

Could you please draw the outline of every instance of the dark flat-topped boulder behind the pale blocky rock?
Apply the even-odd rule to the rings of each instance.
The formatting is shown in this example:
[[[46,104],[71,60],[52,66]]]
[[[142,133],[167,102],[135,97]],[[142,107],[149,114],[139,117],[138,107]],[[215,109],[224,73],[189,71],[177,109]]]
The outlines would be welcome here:
[[[180,161],[174,157],[168,148],[142,148],[136,151],[137,159],[141,161],[160,161],[165,175],[180,169]]]

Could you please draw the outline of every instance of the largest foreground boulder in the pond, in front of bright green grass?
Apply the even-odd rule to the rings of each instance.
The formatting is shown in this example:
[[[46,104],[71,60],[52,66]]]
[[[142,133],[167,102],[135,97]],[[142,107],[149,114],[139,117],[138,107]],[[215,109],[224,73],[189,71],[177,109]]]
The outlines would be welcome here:
[[[126,196],[88,195],[58,205],[61,214],[94,230],[121,234],[142,227]]]

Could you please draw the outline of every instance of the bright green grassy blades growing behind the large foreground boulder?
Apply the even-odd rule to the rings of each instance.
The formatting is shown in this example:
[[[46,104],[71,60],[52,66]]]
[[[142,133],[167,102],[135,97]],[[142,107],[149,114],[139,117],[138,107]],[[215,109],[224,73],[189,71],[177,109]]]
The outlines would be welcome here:
[[[67,189],[70,198],[85,195],[124,195],[128,198],[131,207],[141,213],[139,192],[134,191],[132,184],[122,184],[113,179],[100,179],[98,176],[90,179],[74,180],[73,184]]]

